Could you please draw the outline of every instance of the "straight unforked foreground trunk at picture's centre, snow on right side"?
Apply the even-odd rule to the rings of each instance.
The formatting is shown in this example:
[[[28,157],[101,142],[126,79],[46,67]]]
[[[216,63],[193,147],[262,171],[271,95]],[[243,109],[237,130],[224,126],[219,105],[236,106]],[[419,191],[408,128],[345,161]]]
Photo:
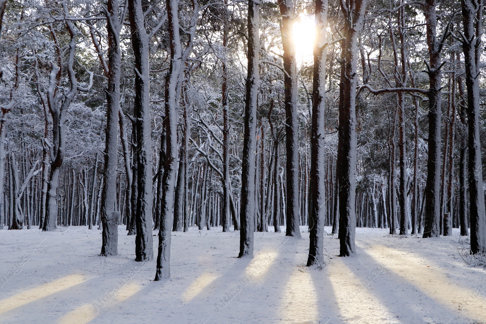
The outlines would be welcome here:
[[[240,253],[253,257],[255,228],[255,154],[257,151],[258,60],[260,49],[260,0],[248,0],[248,70],[244,108],[242,189],[240,205]]]

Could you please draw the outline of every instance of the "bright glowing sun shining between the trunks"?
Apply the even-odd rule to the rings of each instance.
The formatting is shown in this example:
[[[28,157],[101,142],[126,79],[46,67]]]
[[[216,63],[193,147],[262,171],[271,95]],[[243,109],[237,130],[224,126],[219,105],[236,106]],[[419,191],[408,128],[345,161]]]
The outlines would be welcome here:
[[[302,64],[313,60],[313,47],[315,40],[315,22],[313,16],[302,15],[294,22],[293,31],[295,57]]]

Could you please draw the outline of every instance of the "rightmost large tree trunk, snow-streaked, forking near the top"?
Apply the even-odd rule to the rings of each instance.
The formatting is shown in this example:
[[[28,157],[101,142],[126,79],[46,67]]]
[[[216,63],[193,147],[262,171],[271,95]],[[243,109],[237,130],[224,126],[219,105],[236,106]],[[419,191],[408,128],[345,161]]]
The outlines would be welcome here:
[[[486,253],[486,215],[479,118],[479,74],[483,22],[482,0],[461,0],[464,25],[462,47],[468,90],[468,184],[471,253]]]

